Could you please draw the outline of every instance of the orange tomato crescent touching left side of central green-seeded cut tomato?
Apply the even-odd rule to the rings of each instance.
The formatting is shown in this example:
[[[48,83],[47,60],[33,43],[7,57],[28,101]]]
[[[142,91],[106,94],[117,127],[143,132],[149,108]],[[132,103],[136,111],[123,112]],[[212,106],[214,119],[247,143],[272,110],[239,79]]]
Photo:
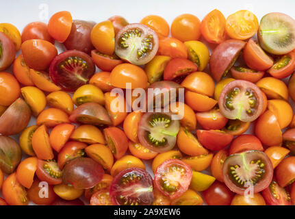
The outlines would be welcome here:
[[[124,132],[132,142],[139,142],[138,140],[138,124],[142,118],[141,111],[134,111],[129,113],[123,123]]]

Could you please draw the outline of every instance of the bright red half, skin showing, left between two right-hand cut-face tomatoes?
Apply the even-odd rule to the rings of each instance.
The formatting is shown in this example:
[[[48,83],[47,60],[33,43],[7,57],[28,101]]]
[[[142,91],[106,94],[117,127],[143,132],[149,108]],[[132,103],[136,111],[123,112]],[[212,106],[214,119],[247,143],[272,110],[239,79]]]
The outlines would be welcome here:
[[[196,135],[201,144],[210,151],[225,149],[233,140],[232,135],[222,131],[197,130]]]

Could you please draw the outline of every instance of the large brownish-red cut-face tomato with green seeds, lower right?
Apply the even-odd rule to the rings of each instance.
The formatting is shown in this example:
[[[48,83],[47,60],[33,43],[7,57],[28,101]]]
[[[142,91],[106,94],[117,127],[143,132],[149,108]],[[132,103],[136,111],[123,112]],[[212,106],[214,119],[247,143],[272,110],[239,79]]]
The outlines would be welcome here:
[[[268,155],[264,152],[246,151],[227,157],[222,173],[225,185],[231,191],[243,195],[248,183],[253,185],[254,193],[266,189],[272,181],[273,169]]]

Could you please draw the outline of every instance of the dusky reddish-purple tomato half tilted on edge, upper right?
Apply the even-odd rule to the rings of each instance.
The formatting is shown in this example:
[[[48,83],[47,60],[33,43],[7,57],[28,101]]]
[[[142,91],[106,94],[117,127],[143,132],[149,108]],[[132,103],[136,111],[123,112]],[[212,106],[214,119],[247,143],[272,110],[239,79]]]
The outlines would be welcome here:
[[[233,66],[234,62],[246,42],[242,40],[226,40],[220,43],[211,54],[209,66],[211,75],[216,81],[220,81],[223,76],[227,75],[228,70]]]

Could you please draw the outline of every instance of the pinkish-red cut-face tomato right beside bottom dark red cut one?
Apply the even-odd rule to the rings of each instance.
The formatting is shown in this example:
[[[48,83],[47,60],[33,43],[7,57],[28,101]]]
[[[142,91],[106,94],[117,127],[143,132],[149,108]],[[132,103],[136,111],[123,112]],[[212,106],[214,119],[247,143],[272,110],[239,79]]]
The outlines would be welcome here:
[[[155,172],[155,186],[171,199],[178,198],[188,190],[191,181],[192,169],[179,159],[168,159]]]

